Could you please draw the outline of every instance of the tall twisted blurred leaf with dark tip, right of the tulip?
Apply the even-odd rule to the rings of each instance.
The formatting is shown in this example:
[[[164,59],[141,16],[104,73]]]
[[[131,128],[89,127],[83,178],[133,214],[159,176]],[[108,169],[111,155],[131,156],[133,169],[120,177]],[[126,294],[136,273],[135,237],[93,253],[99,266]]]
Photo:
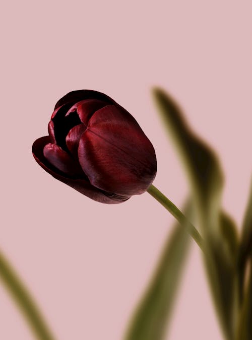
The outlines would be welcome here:
[[[221,212],[224,179],[220,164],[214,152],[188,127],[175,101],[161,89],[154,89],[154,98],[190,180],[205,240],[204,259],[213,300],[223,333],[232,339],[236,229]],[[234,249],[234,253],[230,253],[230,249]]]

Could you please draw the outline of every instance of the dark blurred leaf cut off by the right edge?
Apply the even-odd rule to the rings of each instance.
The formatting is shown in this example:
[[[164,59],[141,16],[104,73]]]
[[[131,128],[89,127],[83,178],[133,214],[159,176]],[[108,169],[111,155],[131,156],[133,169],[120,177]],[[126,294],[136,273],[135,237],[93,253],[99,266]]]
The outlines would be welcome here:
[[[252,183],[242,223],[241,241],[238,254],[239,302],[243,300],[243,286],[246,264],[252,254]]]

